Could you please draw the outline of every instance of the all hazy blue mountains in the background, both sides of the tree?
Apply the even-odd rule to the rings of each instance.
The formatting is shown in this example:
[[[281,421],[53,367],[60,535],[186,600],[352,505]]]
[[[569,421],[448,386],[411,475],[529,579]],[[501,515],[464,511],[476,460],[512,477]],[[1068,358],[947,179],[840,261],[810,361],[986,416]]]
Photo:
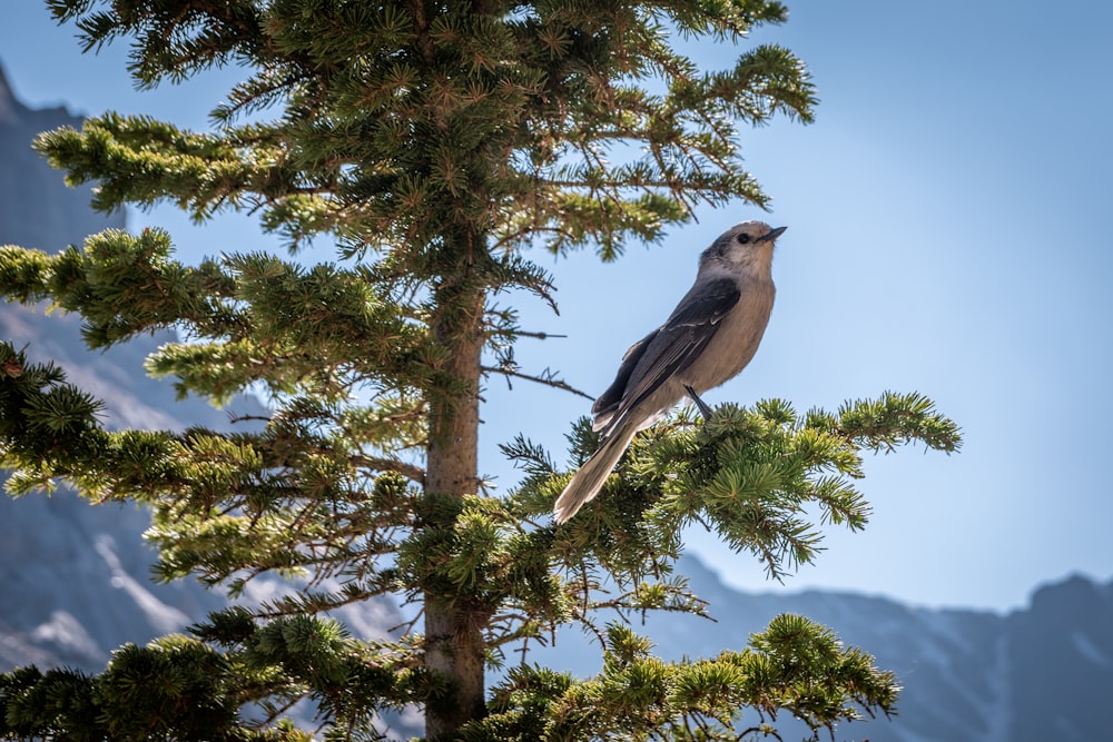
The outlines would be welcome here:
[[[89,189],[67,189],[62,177],[29,149],[40,131],[79,126],[63,109],[31,111],[16,101],[0,72],[0,244],[56,251],[124,217],[88,208]],[[43,317],[0,305],[0,339],[53,359],[79,387],[106,400],[116,426],[220,428],[226,413],[199,399],[176,402],[169,382],[141,373],[142,359],[170,334],[139,338],[106,353],[80,340],[80,318]],[[233,403],[263,414],[258,403]],[[154,553],[141,541],[147,514],[127,505],[90,506],[72,493],[13,501],[0,496],[0,670],[35,663],[87,671],[104,667],[125,642],[178,631],[226,604],[193,581],[154,585]],[[897,672],[905,692],[893,722],[851,724],[836,739],[873,742],[964,742],[1109,739],[1105,701],[1113,687],[1113,583],[1071,577],[1038,588],[1030,606],[1008,614],[910,607],[884,597],[806,591],[795,595],[733,591],[695,560],[681,571],[710,601],[717,623],[654,615],[639,631],[666,657],[715,655],[745,646],[778,613],[807,615],[847,644]],[[253,596],[283,590],[259,581]],[[356,634],[383,635],[400,622],[383,601],[342,619]],[[531,662],[590,674],[599,649],[574,632],[558,646],[531,652]],[[792,739],[786,734],[785,739]]]

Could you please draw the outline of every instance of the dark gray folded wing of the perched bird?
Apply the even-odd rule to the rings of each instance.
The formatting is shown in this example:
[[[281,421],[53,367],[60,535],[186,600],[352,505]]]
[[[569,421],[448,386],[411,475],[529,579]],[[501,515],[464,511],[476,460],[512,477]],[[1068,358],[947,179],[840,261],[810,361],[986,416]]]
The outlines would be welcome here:
[[[720,278],[700,285],[697,293],[689,293],[681,300],[668,321],[640,352],[614,413],[615,422],[703,353],[719,321],[738,304],[739,297],[738,284],[731,278]]]

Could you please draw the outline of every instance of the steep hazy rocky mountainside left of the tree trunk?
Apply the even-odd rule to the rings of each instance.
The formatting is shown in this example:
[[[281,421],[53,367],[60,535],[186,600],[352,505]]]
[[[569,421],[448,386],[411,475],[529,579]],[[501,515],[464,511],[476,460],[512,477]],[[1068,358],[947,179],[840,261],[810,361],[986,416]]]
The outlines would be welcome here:
[[[0,70],[0,245],[56,253],[125,226],[122,214],[93,214],[91,189],[68,188],[30,149],[40,131],[80,125],[62,108],[31,110],[20,103]],[[147,377],[144,359],[175,342],[173,333],[93,353],[80,330],[77,315],[0,305],[0,339],[26,346],[31,360],[53,360],[66,369],[69,382],[106,403],[109,426],[229,429],[229,412],[267,414],[254,397],[235,399],[227,412],[195,397],[178,400],[170,383]],[[49,497],[0,496],[0,671],[31,663],[102,670],[117,646],[180,631],[227,605],[220,592],[194,581],[151,582],[155,553],[142,541],[149,522],[144,509],[92,506],[65,488]],[[253,582],[249,601],[289,590],[275,580]],[[341,617],[368,637],[385,637],[402,623],[388,601],[349,607]]]

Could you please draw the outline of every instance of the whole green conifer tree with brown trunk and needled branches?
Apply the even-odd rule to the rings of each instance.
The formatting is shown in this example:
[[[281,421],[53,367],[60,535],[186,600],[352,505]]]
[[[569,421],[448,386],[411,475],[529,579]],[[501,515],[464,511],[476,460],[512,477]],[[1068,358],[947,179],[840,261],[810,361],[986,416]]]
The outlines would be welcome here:
[[[97,399],[2,344],[8,488],[65,483],[149,506],[161,580],[237,595],[275,573],[305,587],[120,647],[93,676],[0,676],[6,738],[298,740],[280,718],[303,698],[328,739],[375,739],[376,712],[405,704],[424,709],[430,740],[473,741],[736,739],[768,731],[778,711],[818,733],[894,710],[893,674],[805,617],[682,662],[654,657],[624,620],[703,611],[673,573],[686,524],[772,576],[815,557],[814,518],[861,527],[864,451],[957,447],[927,398],[806,414],[725,405],[706,425],[680,410],[561,527],[548,514],[594,446],[584,421],[569,462],[524,438],[504,446],[525,472],[509,495],[487,496],[477,476],[481,385],[506,370],[491,358],[528,335],[492,297],[552,301],[529,255],[611,260],[698,206],[766,204],[739,129],[778,113],[806,122],[815,105],[790,51],[745,40],[786,20],[781,3],[48,4],[86,50],[128,41],[140,87],[224,65],[244,79],[208,131],[108,112],[42,135],[39,151],[71,182],[95,181],[98,209],[170,201],[201,222],[249,211],[299,259],[214,246],[224,257],[185,265],[159,229],[109,230],[57,255],[0,249],[9,300],[80,313],[92,348],[175,328],[183,342],[149,373],[217,404],[262,389],[273,409],[255,433],[109,431]],[[745,50],[703,71],[676,37]],[[332,260],[307,260],[332,248]],[[422,621],[367,642],[327,615],[381,595],[421,605]],[[511,663],[485,687],[485,667],[568,623],[598,637],[597,676]]]

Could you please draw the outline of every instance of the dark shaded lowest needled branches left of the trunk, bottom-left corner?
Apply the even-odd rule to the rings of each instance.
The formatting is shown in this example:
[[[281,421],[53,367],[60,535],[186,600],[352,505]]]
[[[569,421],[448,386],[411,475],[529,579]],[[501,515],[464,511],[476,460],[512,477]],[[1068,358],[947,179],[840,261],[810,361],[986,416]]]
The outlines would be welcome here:
[[[307,742],[304,732],[272,722],[309,698],[349,736],[376,739],[376,710],[423,701],[436,687],[424,682],[413,647],[356,642],[332,621],[257,624],[230,609],[209,622],[190,627],[194,636],[125,645],[92,677],[35,667],[0,675],[0,736]],[[262,718],[242,719],[248,702]]]

